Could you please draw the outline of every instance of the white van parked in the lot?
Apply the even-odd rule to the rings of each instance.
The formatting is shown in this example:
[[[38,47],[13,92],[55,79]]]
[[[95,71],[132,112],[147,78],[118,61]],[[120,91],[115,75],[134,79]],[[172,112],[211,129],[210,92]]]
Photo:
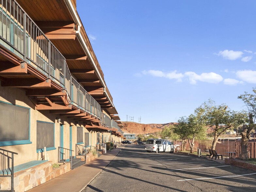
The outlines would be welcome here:
[[[162,139],[148,139],[145,144],[145,150],[147,152],[174,152],[173,143]]]

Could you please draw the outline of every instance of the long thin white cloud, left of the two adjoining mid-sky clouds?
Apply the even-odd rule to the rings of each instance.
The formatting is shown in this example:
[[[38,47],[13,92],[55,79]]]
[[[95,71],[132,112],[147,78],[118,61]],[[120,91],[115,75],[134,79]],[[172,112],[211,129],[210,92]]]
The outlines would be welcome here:
[[[177,73],[177,71],[162,72],[159,70],[149,70],[149,71],[143,71],[142,74],[151,75],[154,77],[165,77],[168,79],[177,79],[177,81],[182,81],[182,78],[184,77],[182,73]]]

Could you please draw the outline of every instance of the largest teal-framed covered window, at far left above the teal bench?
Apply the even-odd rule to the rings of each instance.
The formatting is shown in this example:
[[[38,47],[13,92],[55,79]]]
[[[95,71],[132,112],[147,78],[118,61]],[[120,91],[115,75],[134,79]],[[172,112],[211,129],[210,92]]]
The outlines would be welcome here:
[[[0,102],[0,141],[29,140],[29,109]]]

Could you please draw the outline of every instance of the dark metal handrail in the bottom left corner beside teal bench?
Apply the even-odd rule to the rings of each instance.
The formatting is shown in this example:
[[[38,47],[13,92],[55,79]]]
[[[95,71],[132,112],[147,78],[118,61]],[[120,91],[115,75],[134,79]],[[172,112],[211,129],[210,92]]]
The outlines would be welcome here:
[[[0,148],[0,177],[11,177],[11,190],[14,190],[14,154],[18,153]]]

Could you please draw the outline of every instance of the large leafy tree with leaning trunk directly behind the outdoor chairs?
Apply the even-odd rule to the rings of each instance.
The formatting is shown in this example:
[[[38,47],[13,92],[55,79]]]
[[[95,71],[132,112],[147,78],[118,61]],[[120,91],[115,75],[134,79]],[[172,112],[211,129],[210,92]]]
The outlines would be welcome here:
[[[213,136],[212,150],[215,150],[219,136],[233,128],[236,112],[229,110],[226,104],[216,105],[211,99],[204,102],[200,108],[204,111],[206,125],[214,128],[210,135]]]

